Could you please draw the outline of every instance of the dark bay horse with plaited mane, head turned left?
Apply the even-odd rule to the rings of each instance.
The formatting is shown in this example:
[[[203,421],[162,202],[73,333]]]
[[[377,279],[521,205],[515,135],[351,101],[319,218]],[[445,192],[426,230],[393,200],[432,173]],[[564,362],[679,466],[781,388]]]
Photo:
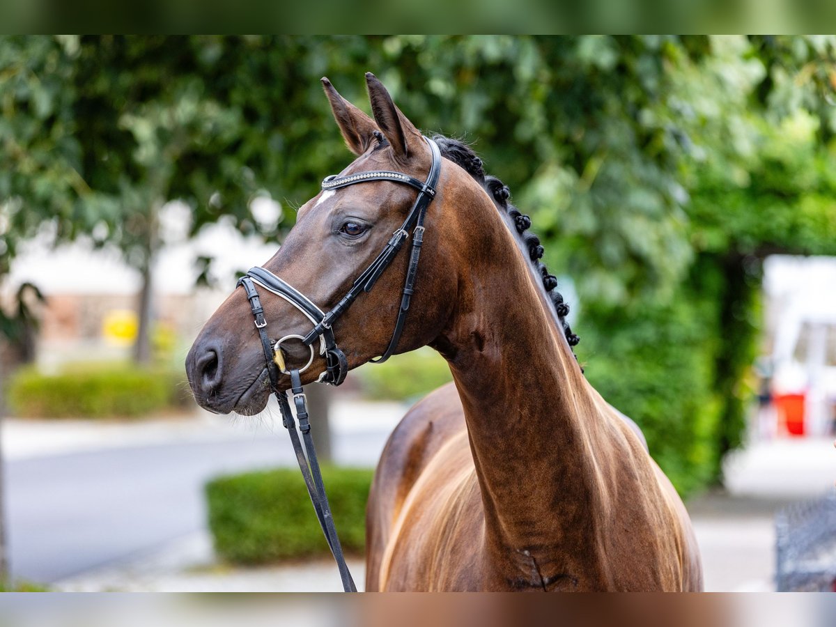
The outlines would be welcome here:
[[[356,155],[339,180],[394,171],[424,181],[431,141],[373,74],[366,82],[374,118],[323,79]],[[365,589],[701,590],[686,508],[640,432],[585,380],[528,217],[468,146],[435,140],[441,170],[421,229],[423,263],[392,341],[396,353],[436,349],[453,383],[415,405],[385,446],[367,509]],[[300,207],[263,268],[334,308],[420,193],[391,178],[326,187]],[[409,263],[395,256],[329,328],[349,369],[388,354]],[[262,303],[270,338],[308,334],[312,321],[298,307],[267,293]],[[236,290],[191,347],[190,385],[208,410],[252,415],[267,404],[268,367],[251,320]],[[280,352],[304,364],[308,349],[294,341]],[[301,382],[328,368],[318,354]],[[281,375],[276,385],[290,381]]]

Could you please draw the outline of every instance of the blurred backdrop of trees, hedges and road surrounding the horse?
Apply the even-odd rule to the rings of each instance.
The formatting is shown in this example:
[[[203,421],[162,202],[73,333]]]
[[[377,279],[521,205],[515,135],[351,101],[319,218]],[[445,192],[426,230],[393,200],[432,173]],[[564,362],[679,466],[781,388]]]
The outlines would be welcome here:
[[[831,502],[786,508],[836,478],[834,56],[812,36],[0,38],[3,579],[339,589],[278,411],[206,414],[183,362],[351,159],[319,78],[368,111],[365,71],[531,215],[586,376],[686,498],[706,587],[781,587],[798,543],[832,555]],[[422,349],[309,392],[355,579],[370,469],[449,378]]]

